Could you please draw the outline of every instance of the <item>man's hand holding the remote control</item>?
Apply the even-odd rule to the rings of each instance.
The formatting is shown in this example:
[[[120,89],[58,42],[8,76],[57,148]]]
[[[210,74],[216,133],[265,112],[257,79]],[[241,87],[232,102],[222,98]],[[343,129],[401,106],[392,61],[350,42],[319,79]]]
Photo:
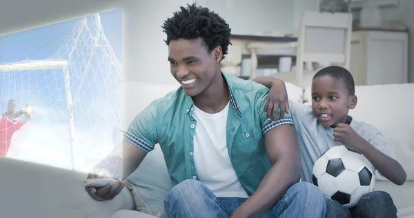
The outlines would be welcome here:
[[[89,174],[86,179],[100,179],[103,176]],[[89,193],[90,197],[97,201],[105,201],[114,199],[119,192],[124,188],[125,184],[123,181],[118,180],[117,182],[112,183],[108,182],[105,186],[94,188],[94,187],[85,187],[86,192]]]

